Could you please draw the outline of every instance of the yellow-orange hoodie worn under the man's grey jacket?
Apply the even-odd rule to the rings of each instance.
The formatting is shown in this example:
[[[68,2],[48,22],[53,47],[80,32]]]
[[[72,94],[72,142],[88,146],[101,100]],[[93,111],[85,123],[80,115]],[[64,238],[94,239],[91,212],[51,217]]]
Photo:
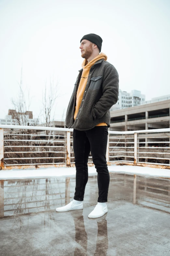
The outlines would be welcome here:
[[[101,54],[96,56],[89,63],[88,63],[88,60],[84,59],[82,65],[81,65],[82,68],[83,68],[83,72],[82,72],[81,79],[80,79],[79,86],[78,86],[78,90],[77,90],[74,120],[76,119],[79,107],[81,105],[81,101],[82,101],[82,98],[83,98],[84,90],[86,88],[87,78],[88,78],[88,75],[89,75],[89,72],[90,72],[90,68],[92,67],[92,65],[94,65],[94,63],[96,61],[101,60],[101,59],[107,60],[106,54],[101,52]],[[107,124],[106,123],[100,123],[100,124],[97,124],[96,126],[107,126]]]

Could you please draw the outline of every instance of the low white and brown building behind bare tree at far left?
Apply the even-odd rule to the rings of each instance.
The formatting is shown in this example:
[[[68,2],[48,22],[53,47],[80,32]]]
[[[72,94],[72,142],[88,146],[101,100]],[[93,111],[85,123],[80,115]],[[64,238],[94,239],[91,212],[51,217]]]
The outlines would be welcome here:
[[[9,109],[8,115],[5,118],[0,119],[1,125],[37,125],[39,120],[33,118],[32,111],[26,111],[25,113],[17,112],[16,110]]]

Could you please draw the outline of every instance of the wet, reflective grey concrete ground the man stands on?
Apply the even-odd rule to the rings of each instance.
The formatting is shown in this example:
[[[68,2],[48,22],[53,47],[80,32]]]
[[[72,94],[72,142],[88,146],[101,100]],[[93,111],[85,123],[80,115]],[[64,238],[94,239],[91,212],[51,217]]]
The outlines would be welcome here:
[[[75,177],[1,180],[0,255],[169,256],[170,179],[110,174],[108,213],[90,176],[84,209],[56,212],[74,196]]]

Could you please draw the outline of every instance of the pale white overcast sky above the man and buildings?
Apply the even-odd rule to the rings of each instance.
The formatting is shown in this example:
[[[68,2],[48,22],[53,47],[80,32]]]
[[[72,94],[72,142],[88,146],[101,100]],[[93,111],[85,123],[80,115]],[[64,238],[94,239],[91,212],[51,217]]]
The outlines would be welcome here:
[[[58,83],[61,120],[83,59],[80,39],[102,37],[102,52],[119,73],[119,88],[146,100],[170,94],[169,0],[0,0],[0,118],[22,88],[37,117],[47,81]],[[54,111],[53,110],[53,111]]]

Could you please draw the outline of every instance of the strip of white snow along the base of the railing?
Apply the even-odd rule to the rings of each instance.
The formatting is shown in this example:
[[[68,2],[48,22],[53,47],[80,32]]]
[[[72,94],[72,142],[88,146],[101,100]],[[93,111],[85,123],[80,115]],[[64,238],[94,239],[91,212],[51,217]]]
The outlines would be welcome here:
[[[89,176],[97,175],[95,166],[88,167]],[[108,165],[110,173],[138,174],[142,176],[153,176],[170,178],[170,170],[150,167],[129,166],[129,165]],[[26,178],[50,178],[60,176],[76,175],[75,167],[39,168],[24,170],[3,170],[0,171],[0,179],[26,179]]]

